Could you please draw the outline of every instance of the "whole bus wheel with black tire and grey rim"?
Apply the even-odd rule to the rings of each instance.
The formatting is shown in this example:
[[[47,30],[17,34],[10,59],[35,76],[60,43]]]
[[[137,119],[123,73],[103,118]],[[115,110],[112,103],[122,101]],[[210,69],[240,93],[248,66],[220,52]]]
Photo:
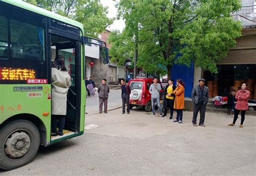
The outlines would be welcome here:
[[[29,164],[40,145],[37,127],[28,120],[15,120],[0,130],[0,168],[13,170]]]

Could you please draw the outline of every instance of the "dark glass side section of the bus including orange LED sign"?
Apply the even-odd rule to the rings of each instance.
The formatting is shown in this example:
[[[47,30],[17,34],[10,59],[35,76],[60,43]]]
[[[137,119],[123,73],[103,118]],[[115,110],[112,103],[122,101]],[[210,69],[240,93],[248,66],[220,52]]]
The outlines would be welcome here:
[[[14,7],[7,11],[1,5],[0,84],[32,84],[36,79],[50,83],[45,17]]]

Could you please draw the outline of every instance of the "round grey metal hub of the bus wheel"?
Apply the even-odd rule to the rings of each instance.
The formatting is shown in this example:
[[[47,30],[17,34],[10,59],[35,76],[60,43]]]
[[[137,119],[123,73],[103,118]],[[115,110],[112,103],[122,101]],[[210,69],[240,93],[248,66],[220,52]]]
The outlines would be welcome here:
[[[29,151],[31,140],[25,132],[11,134],[4,144],[4,152],[9,158],[19,158]]]

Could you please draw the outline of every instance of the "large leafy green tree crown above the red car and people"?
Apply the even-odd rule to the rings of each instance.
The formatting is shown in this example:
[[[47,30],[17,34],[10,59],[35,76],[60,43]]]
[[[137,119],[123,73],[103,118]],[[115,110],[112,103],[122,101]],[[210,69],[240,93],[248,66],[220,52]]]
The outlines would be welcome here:
[[[217,72],[215,63],[241,36],[240,23],[230,17],[239,0],[121,0],[117,6],[126,27],[110,38],[113,59],[124,62],[132,48],[123,45],[138,43],[137,65],[151,73],[167,69],[171,77],[173,64],[192,62]]]

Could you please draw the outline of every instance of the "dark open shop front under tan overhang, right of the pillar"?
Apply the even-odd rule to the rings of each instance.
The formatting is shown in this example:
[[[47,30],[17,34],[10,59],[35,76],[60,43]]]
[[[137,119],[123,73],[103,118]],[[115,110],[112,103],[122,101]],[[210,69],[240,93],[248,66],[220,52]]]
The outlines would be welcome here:
[[[208,80],[211,97],[227,96],[231,90],[238,91],[242,83],[248,84],[250,99],[256,99],[256,22],[255,14],[233,15],[242,24],[242,36],[237,38],[235,48],[231,48],[227,57],[217,63],[218,73],[212,75],[204,71]]]

